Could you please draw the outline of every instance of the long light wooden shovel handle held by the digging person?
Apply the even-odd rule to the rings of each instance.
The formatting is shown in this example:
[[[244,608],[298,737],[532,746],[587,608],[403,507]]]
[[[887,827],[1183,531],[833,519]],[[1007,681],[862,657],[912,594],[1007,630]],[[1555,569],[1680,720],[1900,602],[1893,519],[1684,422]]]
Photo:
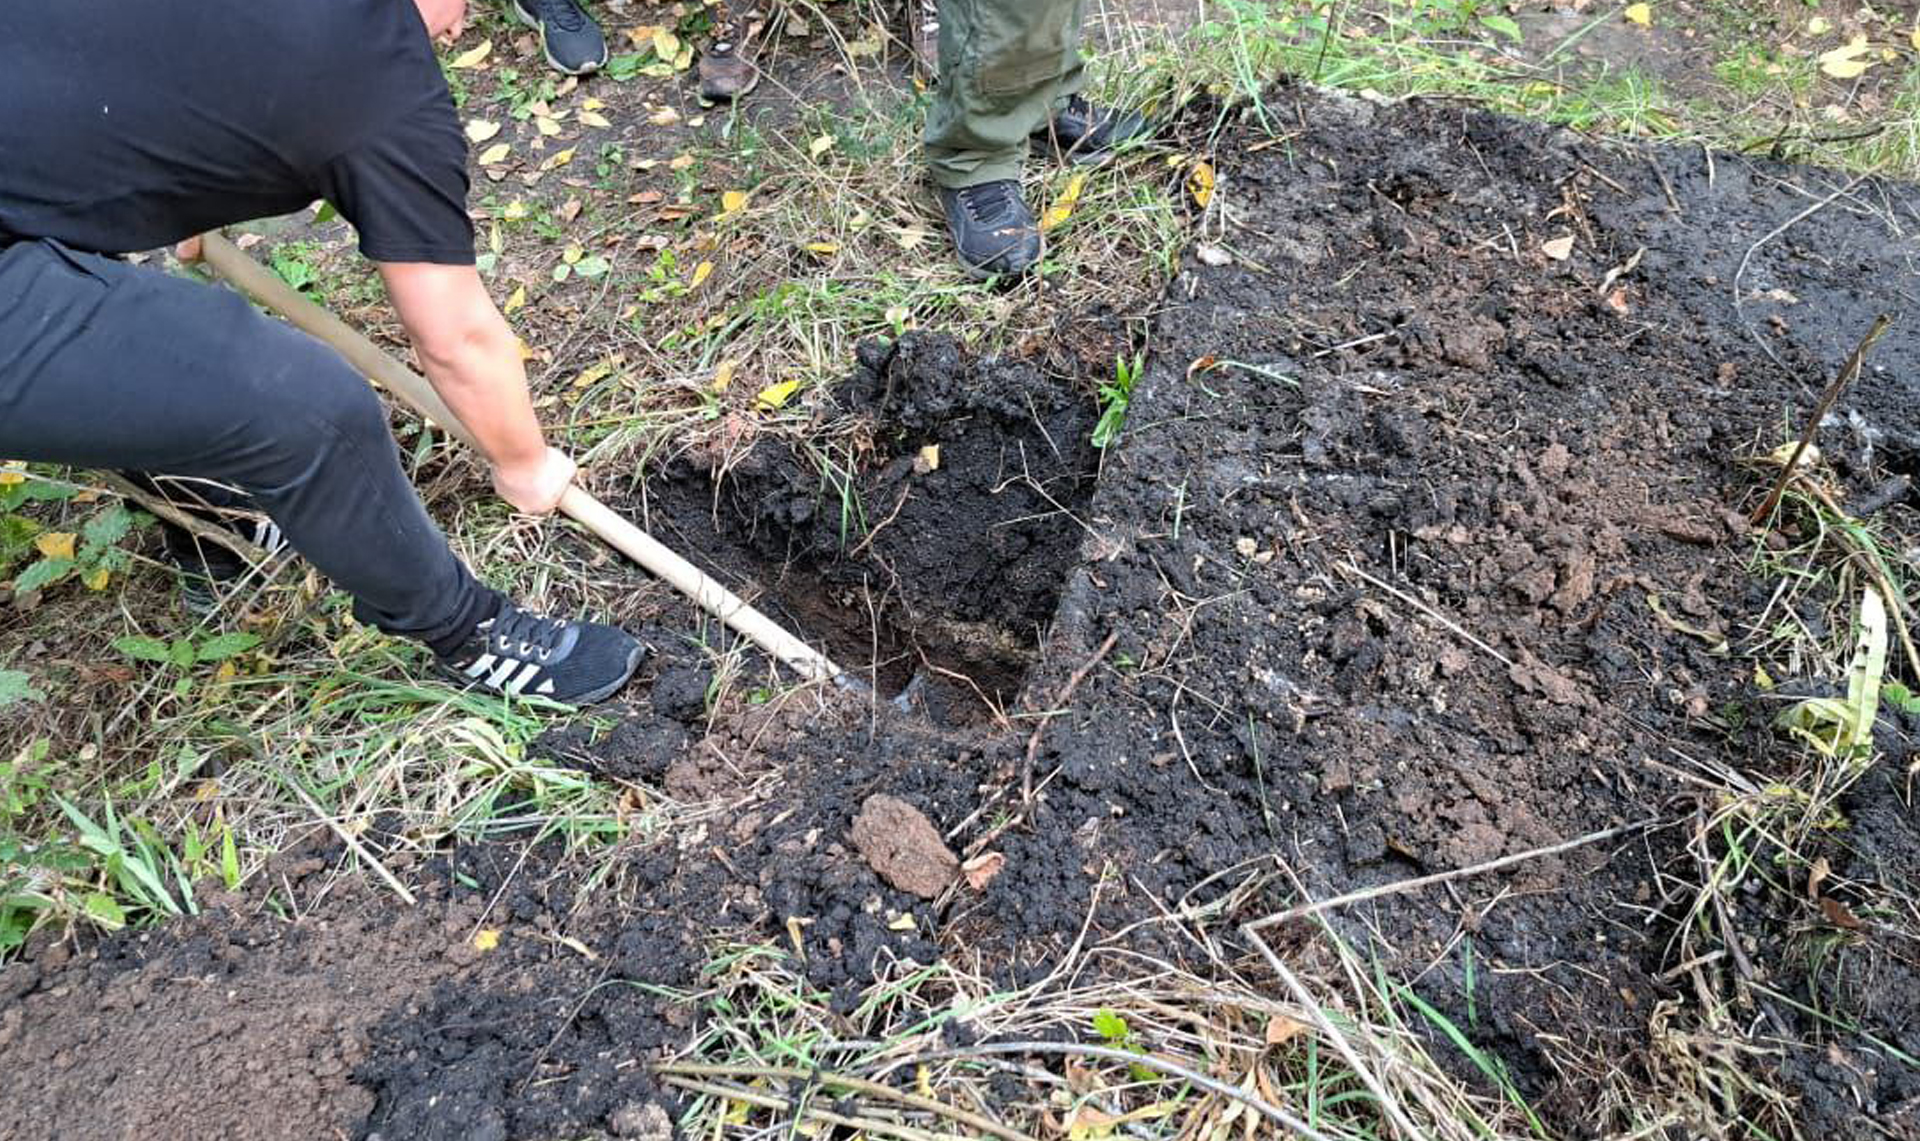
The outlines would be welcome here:
[[[202,242],[202,257],[209,267],[213,267],[213,273],[232,282],[240,292],[273,309],[280,317],[286,317],[296,328],[326,342],[369,380],[380,384],[403,400],[413,411],[440,425],[444,432],[461,440],[468,448],[474,448],[472,436],[467,434],[467,428],[453,417],[451,411],[447,411],[447,405],[442,403],[440,394],[436,394],[432,384],[428,384],[419,373],[396,361],[380,350],[380,346],[355,332],[326,309],[315,305],[307,298],[301,298],[294,292],[294,288],[282,282],[267,267],[248,257],[225,236],[205,234]],[[478,451],[478,448],[474,449]],[[607,546],[664,578],[674,590],[693,599],[693,603],[703,611],[720,619],[760,649],[787,663],[804,678],[864,688],[852,678],[852,674],[843,672],[837,665],[828,661],[826,655],[747,605],[739,595],[708,578],[693,563],[687,563],[674,551],[660,546],[653,536],[622,519],[578,484],[566,488],[566,494],[561,498],[561,513],[597,534],[603,542],[607,542]]]

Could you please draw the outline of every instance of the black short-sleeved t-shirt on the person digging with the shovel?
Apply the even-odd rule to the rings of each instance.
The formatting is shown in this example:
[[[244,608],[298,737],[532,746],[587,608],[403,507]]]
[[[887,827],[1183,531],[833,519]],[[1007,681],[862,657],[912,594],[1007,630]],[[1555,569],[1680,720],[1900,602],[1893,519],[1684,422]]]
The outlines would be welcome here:
[[[411,0],[0,0],[0,238],[125,254],[315,198],[376,261],[474,259]]]

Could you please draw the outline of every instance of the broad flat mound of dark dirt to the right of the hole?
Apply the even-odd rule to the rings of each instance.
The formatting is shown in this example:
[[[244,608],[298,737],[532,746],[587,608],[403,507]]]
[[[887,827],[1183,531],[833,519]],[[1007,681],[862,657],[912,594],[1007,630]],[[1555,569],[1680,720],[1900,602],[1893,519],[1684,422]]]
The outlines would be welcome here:
[[[1715,807],[1695,759],[1764,784],[1795,757],[1764,730],[1751,659],[1724,651],[1772,590],[1747,574],[1741,461],[1912,294],[1899,238],[1920,196],[1866,182],[1809,213],[1843,181],[1446,102],[1277,106],[1298,131],[1229,167],[1225,240],[1173,282],[1091,505],[1112,553],[1069,582],[1033,690],[1117,645],[1048,738],[1060,780],[996,889],[1104,859],[1200,905],[1277,855],[1332,895],[1678,822],[1336,916],[1557,1126],[1603,1129],[1597,1081],[1695,999],[1665,974],[1693,901],[1674,886],[1699,884],[1680,845],[1692,807]],[[1912,327],[1882,344],[1830,446],[1910,448],[1916,350]],[[1864,492],[1885,473],[1860,455],[1845,474]],[[1910,532],[1910,503],[1889,511]],[[1870,820],[1901,836],[1851,834],[1876,851],[1862,882],[1914,882],[1912,814]],[[1878,978],[1811,983],[1782,945],[1768,985],[1920,1049],[1912,1007],[1885,997],[1920,985],[1893,926],[1743,895],[1749,937],[1814,932]],[[1832,1037],[1788,1003],[1768,1018]],[[1805,1064],[1826,1049],[1793,1053],[1809,1124],[1891,1120],[1920,1095],[1870,1047],[1834,1087]]]

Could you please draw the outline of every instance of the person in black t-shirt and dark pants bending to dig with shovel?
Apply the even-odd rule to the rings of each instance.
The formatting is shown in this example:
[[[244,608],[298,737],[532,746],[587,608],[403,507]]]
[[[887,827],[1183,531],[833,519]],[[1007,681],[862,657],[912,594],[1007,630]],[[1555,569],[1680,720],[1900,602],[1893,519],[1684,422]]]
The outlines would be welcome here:
[[[599,701],[639,642],[478,582],[340,355],[115,257],[182,240],[190,257],[192,234],[332,202],[493,488],[553,511],[574,467],[474,269],[467,142],[432,50],[463,17],[465,0],[0,6],[0,455],[230,484],[361,620],[457,682]]]

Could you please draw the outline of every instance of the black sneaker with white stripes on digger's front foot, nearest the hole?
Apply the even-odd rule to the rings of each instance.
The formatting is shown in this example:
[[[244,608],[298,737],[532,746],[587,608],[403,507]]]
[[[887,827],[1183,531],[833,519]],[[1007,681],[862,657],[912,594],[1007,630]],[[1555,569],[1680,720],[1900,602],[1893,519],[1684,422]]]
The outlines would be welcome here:
[[[591,705],[620,692],[643,655],[626,630],[543,619],[501,599],[499,611],[438,665],[447,678],[488,693]]]

